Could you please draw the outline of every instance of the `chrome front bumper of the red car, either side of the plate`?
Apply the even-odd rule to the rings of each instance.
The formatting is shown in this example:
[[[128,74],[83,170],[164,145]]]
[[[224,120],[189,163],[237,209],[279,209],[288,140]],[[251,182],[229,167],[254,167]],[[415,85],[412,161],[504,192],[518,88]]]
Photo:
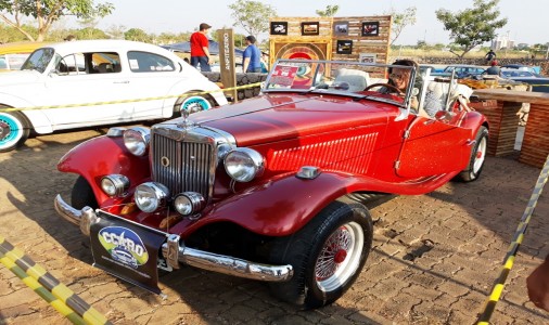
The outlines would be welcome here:
[[[54,207],[61,217],[80,226],[80,231],[85,235],[90,235],[90,224],[98,218],[92,208],[84,207],[81,210],[77,210],[65,203],[61,195],[55,197]],[[174,269],[178,269],[179,263],[181,263],[228,275],[268,282],[289,281],[293,275],[293,269],[290,264],[260,264],[186,247],[177,235],[168,236],[167,243],[162,246],[162,253]]]

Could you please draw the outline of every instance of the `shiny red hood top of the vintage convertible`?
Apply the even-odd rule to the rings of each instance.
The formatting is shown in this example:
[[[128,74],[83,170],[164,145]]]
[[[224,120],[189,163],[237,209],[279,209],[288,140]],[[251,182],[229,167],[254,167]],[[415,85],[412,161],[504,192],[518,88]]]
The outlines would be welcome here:
[[[229,132],[239,146],[250,146],[366,125],[385,125],[391,115],[397,114],[394,105],[353,101],[347,96],[266,94],[193,114],[189,120]]]

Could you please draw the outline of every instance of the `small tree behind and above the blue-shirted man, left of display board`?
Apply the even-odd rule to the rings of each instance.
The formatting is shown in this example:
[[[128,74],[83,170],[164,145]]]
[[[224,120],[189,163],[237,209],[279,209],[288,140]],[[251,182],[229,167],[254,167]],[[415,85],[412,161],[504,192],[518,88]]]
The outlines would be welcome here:
[[[269,30],[269,18],[277,15],[277,11],[269,4],[259,1],[238,0],[229,4],[231,16],[248,35],[256,36]]]

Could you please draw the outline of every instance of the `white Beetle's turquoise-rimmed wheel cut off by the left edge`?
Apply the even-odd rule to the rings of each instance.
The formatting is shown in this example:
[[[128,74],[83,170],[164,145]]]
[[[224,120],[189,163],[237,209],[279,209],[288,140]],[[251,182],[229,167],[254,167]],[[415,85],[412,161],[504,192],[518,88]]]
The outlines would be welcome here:
[[[0,153],[12,151],[22,145],[28,134],[30,134],[30,128],[23,114],[0,112]]]

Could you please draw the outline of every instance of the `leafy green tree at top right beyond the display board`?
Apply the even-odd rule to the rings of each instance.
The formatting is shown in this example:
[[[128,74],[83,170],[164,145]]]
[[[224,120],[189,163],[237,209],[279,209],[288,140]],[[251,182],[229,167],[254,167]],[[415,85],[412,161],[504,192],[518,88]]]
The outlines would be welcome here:
[[[498,20],[499,0],[474,0],[472,9],[451,13],[445,9],[436,11],[436,18],[450,31],[454,44],[451,53],[463,57],[469,51],[496,37],[496,30],[507,24],[507,18]]]

